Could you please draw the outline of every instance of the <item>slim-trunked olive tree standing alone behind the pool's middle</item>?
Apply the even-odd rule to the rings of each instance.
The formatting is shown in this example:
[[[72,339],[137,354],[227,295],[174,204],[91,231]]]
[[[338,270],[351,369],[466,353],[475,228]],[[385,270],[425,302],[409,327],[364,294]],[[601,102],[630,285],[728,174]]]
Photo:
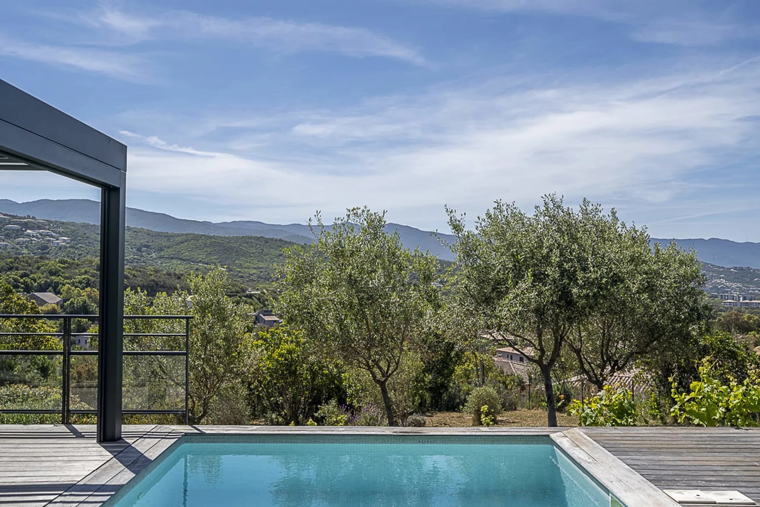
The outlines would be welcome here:
[[[405,249],[385,225],[385,213],[368,208],[348,210],[331,227],[316,214],[309,220],[315,242],[287,249],[277,267],[277,312],[326,353],[369,373],[394,426],[388,380],[420,348],[438,298],[438,261]]]

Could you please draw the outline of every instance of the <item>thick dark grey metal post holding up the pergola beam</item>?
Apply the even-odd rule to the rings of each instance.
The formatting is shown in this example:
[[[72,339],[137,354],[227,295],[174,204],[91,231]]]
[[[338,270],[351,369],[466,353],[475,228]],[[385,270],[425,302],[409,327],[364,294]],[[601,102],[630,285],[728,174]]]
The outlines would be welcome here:
[[[121,173],[121,179],[119,187],[103,187],[100,198],[98,442],[116,442],[122,438],[126,173]]]

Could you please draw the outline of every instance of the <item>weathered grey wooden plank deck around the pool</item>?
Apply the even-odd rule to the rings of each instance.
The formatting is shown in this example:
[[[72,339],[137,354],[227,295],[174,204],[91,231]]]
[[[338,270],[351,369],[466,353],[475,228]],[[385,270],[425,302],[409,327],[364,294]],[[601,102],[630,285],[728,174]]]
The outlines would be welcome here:
[[[100,505],[182,434],[257,433],[262,429],[261,426],[124,426],[122,442],[98,445],[94,426],[0,425],[0,505]],[[283,426],[265,430],[312,433],[315,429]],[[339,429],[321,426],[319,431],[464,435],[555,433],[555,437],[572,437],[579,442],[578,429],[560,434],[562,429],[546,428]],[[596,442],[586,439],[601,453],[606,455],[599,446],[660,489],[739,490],[760,504],[760,429],[583,428],[580,433],[584,439],[587,436]],[[579,451],[583,453],[586,449],[579,448]],[[588,452],[593,454],[593,450]],[[620,461],[611,457],[610,460],[627,468]],[[603,464],[603,461],[597,461],[597,464]],[[635,475],[632,471],[630,474]]]

